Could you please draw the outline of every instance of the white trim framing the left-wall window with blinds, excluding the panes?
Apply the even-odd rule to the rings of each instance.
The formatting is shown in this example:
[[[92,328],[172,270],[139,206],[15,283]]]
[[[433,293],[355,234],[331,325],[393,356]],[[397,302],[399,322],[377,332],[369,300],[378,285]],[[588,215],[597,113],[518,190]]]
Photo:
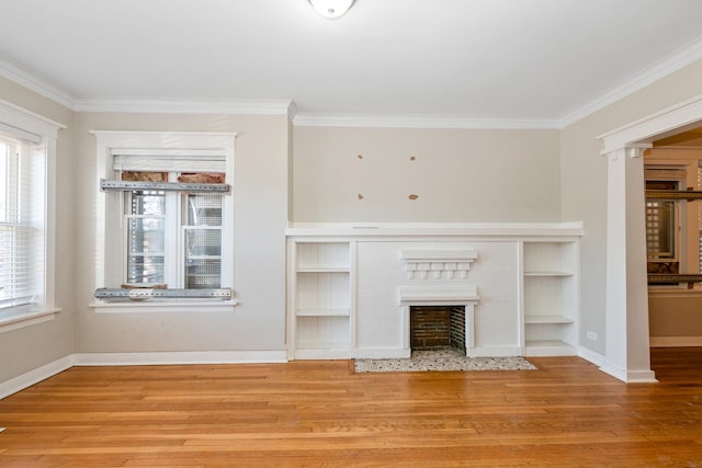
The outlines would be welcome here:
[[[19,306],[0,313],[0,333],[54,319],[56,307],[56,140],[65,125],[0,100],[3,132],[37,142],[46,157],[44,303],[41,307]]]

